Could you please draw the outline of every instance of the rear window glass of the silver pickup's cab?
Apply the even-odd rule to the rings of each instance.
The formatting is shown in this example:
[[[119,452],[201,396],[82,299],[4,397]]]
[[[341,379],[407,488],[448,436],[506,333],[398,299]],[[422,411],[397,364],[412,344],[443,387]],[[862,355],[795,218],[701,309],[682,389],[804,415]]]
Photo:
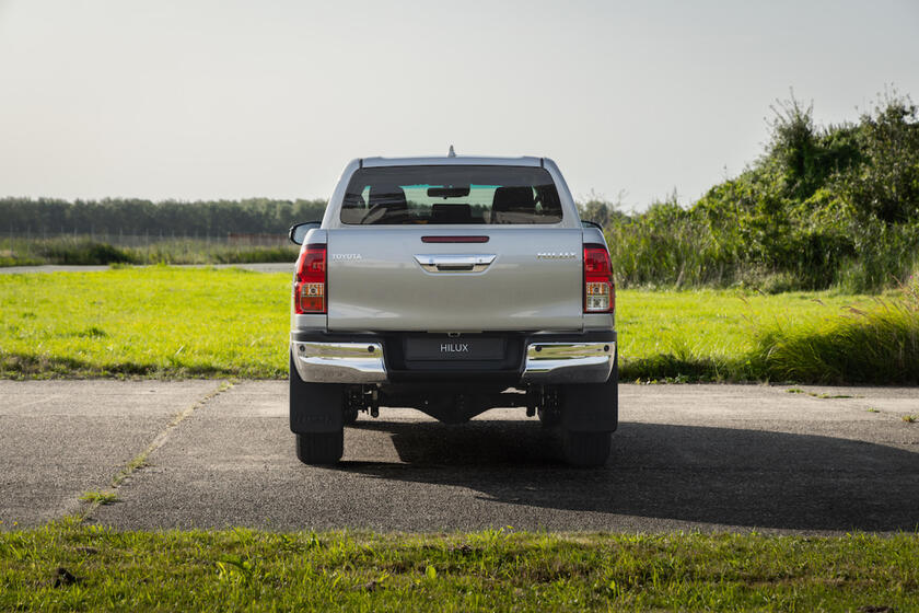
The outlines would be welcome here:
[[[352,224],[559,221],[548,171],[525,166],[360,169],[341,204],[341,222]]]

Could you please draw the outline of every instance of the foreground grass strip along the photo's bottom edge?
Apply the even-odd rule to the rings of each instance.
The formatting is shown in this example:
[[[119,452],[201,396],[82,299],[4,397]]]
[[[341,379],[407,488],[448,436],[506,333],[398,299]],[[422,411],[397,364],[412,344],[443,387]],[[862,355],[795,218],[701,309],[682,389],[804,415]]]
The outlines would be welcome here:
[[[7,611],[917,608],[919,537],[909,534],[0,532]]]

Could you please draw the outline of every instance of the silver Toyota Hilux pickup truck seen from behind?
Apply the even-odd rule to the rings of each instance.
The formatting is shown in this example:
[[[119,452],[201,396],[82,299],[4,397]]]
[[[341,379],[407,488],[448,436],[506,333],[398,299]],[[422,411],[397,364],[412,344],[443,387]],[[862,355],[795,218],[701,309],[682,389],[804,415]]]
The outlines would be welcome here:
[[[445,423],[526,407],[565,460],[606,462],[618,424],[615,286],[546,158],[354,160],[299,223],[290,335],[298,458],[329,464],[361,412]]]

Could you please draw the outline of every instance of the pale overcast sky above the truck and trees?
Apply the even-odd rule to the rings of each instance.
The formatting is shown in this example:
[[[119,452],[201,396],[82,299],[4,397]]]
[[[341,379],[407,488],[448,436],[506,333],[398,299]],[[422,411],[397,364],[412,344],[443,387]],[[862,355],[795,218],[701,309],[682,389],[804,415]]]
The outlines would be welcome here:
[[[793,88],[919,100],[919,1],[0,0],[0,196],[327,197],[370,155],[546,155],[689,204]]]

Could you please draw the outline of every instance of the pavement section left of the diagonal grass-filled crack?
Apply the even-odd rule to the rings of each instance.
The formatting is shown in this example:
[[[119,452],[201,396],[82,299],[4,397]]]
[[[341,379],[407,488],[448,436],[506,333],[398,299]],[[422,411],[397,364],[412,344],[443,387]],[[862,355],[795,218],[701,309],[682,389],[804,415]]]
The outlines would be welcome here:
[[[0,529],[77,511],[218,381],[0,380]]]

